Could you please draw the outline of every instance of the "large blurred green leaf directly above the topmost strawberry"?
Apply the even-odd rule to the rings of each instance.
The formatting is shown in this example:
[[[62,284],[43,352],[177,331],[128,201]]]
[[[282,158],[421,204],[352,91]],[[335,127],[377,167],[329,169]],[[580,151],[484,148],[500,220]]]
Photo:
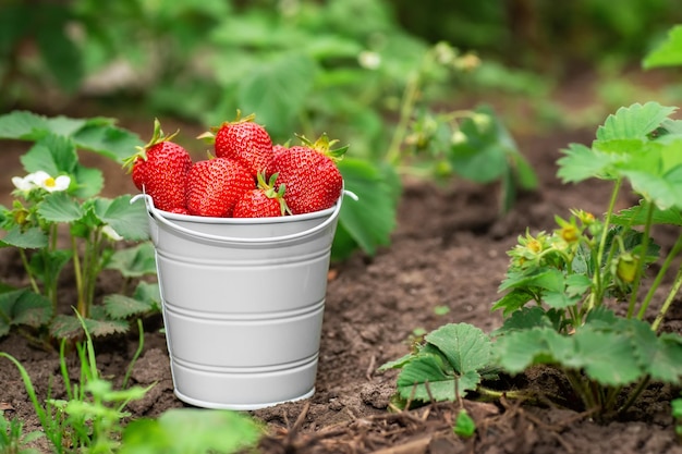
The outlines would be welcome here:
[[[275,61],[261,62],[240,84],[238,103],[243,112],[258,112],[258,121],[270,134],[285,136],[305,106],[313,88],[317,66],[304,53],[284,53]]]

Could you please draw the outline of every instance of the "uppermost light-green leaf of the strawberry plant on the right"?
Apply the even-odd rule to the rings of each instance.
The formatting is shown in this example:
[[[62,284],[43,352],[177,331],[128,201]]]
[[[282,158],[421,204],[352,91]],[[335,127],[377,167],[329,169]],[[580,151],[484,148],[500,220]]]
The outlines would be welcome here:
[[[622,107],[614,114],[609,115],[602,126],[599,126],[597,138],[599,140],[646,140],[647,135],[660,126],[675,110],[674,107],[663,107],[658,102]]]

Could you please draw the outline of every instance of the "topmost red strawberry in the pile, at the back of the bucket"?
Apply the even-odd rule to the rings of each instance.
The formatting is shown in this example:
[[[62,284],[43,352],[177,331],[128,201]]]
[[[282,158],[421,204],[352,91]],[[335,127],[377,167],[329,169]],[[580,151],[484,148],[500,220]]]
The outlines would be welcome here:
[[[218,158],[235,159],[257,177],[272,159],[272,140],[266,128],[254,121],[255,114],[240,116],[238,111],[236,120],[212,127],[199,138],[214,143]]]

